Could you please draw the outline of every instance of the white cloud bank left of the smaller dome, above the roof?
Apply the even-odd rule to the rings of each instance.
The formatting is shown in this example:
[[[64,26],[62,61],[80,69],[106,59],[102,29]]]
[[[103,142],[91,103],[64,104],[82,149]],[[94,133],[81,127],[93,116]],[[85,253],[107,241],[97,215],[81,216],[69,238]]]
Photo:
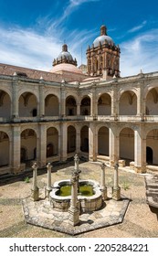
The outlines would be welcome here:
[[[51,69],[53,56],[61,51],[58,38],[34,31],[0,28],[0,62],[33,69]]]

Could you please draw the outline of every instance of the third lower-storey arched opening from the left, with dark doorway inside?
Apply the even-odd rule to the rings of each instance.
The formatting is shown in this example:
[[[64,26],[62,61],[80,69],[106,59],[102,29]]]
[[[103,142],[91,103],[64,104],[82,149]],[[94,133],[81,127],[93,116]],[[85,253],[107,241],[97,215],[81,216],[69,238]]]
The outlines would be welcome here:
[[[55,127],[47,129],[47,157],[58,155],[58,130]]]

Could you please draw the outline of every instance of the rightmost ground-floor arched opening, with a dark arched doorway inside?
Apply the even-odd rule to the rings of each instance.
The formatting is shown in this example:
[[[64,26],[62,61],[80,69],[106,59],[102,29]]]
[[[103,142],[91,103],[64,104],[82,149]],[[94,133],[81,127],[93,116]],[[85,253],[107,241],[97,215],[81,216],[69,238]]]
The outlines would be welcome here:
[[[146,161],[158,165],[158,129],[153,129],[146,136]]]

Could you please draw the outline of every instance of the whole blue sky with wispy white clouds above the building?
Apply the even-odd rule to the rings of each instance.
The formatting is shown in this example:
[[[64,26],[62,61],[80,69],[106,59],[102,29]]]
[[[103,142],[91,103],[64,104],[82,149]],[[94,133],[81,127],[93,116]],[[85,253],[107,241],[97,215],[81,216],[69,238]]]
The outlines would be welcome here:
[[[0,63],[51,69],[66,42],[80,65],[100,26],[121,48],[121,76],[158,70],[157,0],[0,0]]]

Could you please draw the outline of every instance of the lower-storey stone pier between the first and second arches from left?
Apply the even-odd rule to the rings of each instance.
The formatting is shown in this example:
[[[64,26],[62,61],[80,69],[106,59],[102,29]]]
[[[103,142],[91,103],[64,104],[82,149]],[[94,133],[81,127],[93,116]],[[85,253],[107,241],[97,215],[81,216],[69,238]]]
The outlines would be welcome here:
[[[12,126],[12,144],[10,146],[10,157],[11,157],[11,172],[16,174],[20,171],[20,142],[21,142],[21,136],[20,136],[20,126],[19,124],[14,124]]]

